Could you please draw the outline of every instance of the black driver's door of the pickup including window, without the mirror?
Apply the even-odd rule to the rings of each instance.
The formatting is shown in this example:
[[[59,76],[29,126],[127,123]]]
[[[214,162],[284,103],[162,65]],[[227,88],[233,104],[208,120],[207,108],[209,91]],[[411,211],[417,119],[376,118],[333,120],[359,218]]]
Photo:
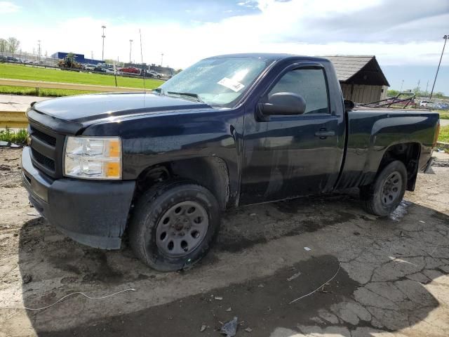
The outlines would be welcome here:
[[[262,101],[281,92],[301,95],[305,111],[266,116],[257,105],[246,114],[241,204],[328,192],[337,180],[344,126],[330,105],[325,69],[286,69]]]

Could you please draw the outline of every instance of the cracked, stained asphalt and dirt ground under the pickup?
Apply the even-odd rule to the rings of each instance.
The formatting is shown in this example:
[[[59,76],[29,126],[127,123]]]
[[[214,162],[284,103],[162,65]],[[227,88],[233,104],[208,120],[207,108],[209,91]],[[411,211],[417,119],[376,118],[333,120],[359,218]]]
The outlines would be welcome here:
[[[447,165],[390,218],[362,211],[356,190],[229,211],[202,263],[160,273],[126,244],[90,249],[33,216],[5,160],[18,153],[0,151],[13,168],[0,175],[0,336],[220,336],[234,316],[236,336],[449,336]]]

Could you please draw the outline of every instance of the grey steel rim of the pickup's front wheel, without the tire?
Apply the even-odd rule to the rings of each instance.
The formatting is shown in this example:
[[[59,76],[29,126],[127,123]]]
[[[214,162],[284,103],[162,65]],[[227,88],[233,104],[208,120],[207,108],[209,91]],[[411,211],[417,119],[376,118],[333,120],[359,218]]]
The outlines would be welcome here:
[[[156,244],[165,256],[186,256],[203,242],[208,227],[206,209],[196,201],[182,201],[170,207],[159,218]]]

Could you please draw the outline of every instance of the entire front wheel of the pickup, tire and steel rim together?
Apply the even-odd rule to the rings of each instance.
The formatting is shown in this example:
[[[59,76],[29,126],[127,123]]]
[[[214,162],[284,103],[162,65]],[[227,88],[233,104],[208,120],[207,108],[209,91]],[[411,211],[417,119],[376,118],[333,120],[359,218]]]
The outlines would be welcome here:
[[[219,227],[220,208],[206,187],[169,180],[140,197],[130,222],[130,246],[156,270],[181,270],[206,255]]]

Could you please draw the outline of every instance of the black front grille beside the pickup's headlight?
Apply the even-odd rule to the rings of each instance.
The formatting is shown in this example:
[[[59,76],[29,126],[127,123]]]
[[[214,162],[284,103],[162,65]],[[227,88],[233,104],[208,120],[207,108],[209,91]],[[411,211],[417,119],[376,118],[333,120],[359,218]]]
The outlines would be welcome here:
[[[62,178],[62,148],[65,136],[29,119],[32,163],[51,178]]]

